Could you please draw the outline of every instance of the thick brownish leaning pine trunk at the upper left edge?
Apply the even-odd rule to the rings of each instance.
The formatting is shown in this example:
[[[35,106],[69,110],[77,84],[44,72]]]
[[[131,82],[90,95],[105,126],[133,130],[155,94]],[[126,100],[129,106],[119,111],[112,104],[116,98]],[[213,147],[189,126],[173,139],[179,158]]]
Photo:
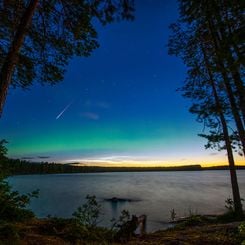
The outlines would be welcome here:
[[[9,52],[3,63],[0,73],[0,116],[3,112],[9,85],[11,84],[12,75],[18,60],[19,51],[23,45],[27,28],[30,26],[32,17],[35,13],[38,0],[31,0],[26,11],[24,12],[19,26],[16,30],[14,40],[11,44]]]

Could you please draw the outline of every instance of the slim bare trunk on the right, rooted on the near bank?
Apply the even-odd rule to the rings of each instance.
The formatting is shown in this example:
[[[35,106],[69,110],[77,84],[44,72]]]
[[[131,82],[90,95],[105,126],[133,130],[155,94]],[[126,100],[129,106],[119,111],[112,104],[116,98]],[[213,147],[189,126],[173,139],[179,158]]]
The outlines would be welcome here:
[[[202,47],[202,53],[204,56],[205,66],[206,66],[208,76],[209,76],[209,82],[210,82],[210,85],[212,87],[216,108],[217,108],[217,111],[219,114],[219,118],[220,118],[221,125],[222,125],[222,131],[224,134],[226,151],[227,151],[227,156],[228,156],[228,161],[229,161],[229,169],[230,169],[230,177],[231,177],[231,186],[232,186],[232,194],[233,194],[235,214],[236,214],[237,219],[242,220],[242,218],[243,218],[242,203],[241,203],[241,197],[240,197],[240,192],[239,192],[239,185],[238,185],[238,181],[237,181],[235,161],[234,161],[234,157],[233,157],[233,153],[232,153],[232,147],[231,147],[231,141],[230,141],[230,137],[229,137],[229,131],[228,131],[226,119],[225,119],[225,116],[223,113],[222,105],[220,104],[219,96],[218,96],[218,93],[216,90],[215,81],[214,81],[212,72],[210,70],[210,64],[208,62],[208,58],[206,56],[205,49],[203,47]]]

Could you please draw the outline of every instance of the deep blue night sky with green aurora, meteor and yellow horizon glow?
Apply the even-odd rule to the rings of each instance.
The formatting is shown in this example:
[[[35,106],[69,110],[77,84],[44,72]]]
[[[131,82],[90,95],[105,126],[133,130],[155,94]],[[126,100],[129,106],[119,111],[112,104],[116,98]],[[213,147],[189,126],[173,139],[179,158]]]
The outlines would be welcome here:
[[[9,157],[113,166],[226,164],[205,150],[203,126],[176,89],[181,60],[167,52],[173,0],[136,1],[133,22],[97,26],[100,48],[70,61],[63,82],[11,89],[0,119]],[[237,157],[237,163],[243,163]]]

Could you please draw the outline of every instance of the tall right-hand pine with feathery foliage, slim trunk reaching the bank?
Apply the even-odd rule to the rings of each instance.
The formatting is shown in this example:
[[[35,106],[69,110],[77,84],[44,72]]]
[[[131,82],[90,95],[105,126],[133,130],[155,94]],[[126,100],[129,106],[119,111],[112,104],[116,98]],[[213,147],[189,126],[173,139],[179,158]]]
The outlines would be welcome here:
[[[214,6],[217,7],[216,3],[221,1],[214,2]],[[209,12],[206,12],[206,9]],[[198,121],[203,122],[205,127],[210,128],[209,135],[201,134],[208,140],[206,147],[227,151],[235,212],[237,217],[241,218],[243,211],[232,150],[236,149],[236,146],[241,146],[245,155],[245,138],[242,138],[244,128],[240,118],[244,109],[241,100],[243,92],[237,89],[232,75],[234,66],[228,62],[230,56],[228,47],[234,44],[232,42],[227,44],[228,40],[222,40],[226,42],[222,47],[227,50],[222,51],[219,47],[217,51],[214,34],[218,32],[216,28],[219,27],[212,23],[215,9],[215,7],[213,9],[210,7],[208,0],[180,1],[182,18],[171,26],[173,35],[169,41],[169,53],[181,57],[188,67],[187,79],[181,90],[185,97],[193,101],[190,111],[197,114]],[[218,25],[218,22],[216,24]],[[227,21],[223,23],[222,28],[228,28],[225,24],[227,25]],[[239,39],[235,42],[237,50],[232,53],[234,56],[237,52],[234,57],[237,63],[240,63],[239,72],[242,66],[239,58],[240,44]],[[235,121],[238,133],[229,132],[228,122],[232,119]],[[238,138],[237,135],[239,135]]]

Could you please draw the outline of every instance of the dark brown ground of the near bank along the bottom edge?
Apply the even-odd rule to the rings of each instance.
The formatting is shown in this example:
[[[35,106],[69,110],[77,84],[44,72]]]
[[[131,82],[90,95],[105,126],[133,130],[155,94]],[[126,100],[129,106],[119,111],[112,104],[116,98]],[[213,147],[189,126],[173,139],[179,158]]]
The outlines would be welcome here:
[[[24,223],[1,225],[1,244],[245,244],[245,223],[181,224],[175,228],[143,236],[115,239],[104,228],[84,229],[70,220],[33,219]]]

